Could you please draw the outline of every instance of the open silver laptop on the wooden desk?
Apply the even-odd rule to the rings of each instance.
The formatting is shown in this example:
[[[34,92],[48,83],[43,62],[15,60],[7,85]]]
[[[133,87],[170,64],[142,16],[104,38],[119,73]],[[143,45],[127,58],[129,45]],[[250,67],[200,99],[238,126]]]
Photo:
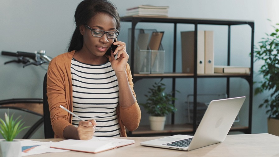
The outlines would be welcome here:
[[[194,136],[174,135],[141,142],[140,145],[189,151],[223,142],[245,98],[212,100]]]

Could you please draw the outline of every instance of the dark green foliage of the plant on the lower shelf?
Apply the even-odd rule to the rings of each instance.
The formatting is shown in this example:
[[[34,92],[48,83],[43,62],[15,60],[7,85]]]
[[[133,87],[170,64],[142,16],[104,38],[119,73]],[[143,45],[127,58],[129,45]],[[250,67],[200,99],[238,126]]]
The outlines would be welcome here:
[[[172,96],[172,92],[164,92],[166,87],[162,80],[155,82],[152,85],[153,88],[149,88],[149,95],[144,95],[147,97],[147,102],[140,103],[151,116],[166,116],[171,112],[177,111],[173,103],[176,98]]]

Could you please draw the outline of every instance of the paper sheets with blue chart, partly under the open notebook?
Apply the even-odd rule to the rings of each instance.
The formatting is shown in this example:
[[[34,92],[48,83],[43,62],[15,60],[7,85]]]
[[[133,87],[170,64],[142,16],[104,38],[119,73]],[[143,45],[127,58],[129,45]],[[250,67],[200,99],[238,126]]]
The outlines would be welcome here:
[[[54,143],[54,142],[52,142],[52,141],[39,142],[39,141],[33,141],[33,140],[22,140],[21,141],[21,149],[22,149],[21,156],[69,151],[69,150],[59,150],[59,149],[50,148],[50,144],[52,144],[52,143]]]

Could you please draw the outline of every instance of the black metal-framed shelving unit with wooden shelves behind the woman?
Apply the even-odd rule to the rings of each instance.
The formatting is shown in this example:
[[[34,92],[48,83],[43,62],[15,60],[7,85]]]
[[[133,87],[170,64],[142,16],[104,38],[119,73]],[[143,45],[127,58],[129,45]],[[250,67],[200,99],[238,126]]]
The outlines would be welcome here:
[[[171,78],[172,90],[175,91],[177,78],[193,78],[193,124],[181,125],[174,124],[174,114],[172,115],[171,125],[166,125],[163,131],[151,131],[149,126],[139,126],[139,128],[133,132],[128,131],[128,136],[155,136],[155,135],[172,135],[172,134],[194,134],[197,129],[197,79],[198,78],[225,78],[226,79],[226,94],[229,97],[229,84],[230,78],[243,78],[248,81],[249,84],[249,98],[248,98],[248,126],[232,126],[230,131],[241,131],[246,134],[251,133],[252,128],[252,100],[253,100],[253,45],[254,45],[254,22],[253,21],[235,21],[235,20],[216,20],[216,19],[193,19],[193,18],[176,18],[176,17],[146,17],[146,16],[126,16],[121,17],[122,22],[131,23],[131,47],[130,59],[131,63],[134,63],[135,55],[135,27],[139,22],[150,23],[172,23],[174,25],[173,30],[173,72],[164,74],[134,74],[134,64],[130,64],[131,72],[134,83],[139,79],[150,78]],[[176,72],[176,47],[177,47],[177,24],[194,24],[194,73],[183,74]],[[234,25],[248,25],[251,27],[251,57],[250,57],[250,74],[197,74],[197,27],[198,25],[225,25],[228,26],[228,51],[227,51],[227,65],[230,65],[230,34],[231,26]],[[248,53],[247,53],[248,55]]]

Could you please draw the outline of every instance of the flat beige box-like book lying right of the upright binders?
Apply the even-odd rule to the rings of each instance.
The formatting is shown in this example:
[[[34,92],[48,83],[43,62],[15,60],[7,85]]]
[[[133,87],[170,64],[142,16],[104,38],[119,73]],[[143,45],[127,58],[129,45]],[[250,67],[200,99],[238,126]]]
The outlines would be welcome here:
[[[229,74],[250,74],[249,67],[240,66],[214,66],[214,73],[229,73]]]

